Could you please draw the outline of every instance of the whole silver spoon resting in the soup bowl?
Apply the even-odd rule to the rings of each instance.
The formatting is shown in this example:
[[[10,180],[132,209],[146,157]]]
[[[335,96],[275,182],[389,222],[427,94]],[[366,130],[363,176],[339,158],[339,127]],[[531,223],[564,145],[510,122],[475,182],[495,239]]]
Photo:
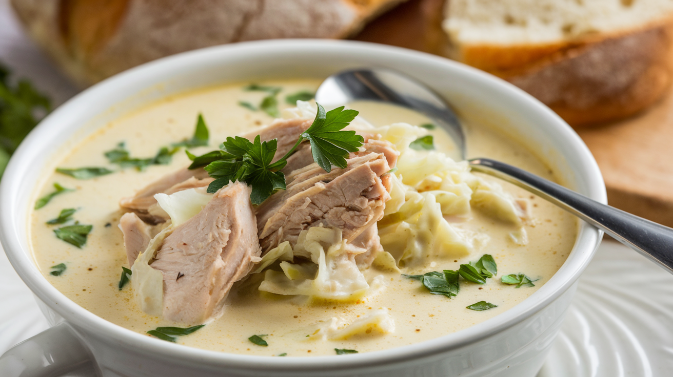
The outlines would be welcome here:
[[[326,107],[362,100],[394,103],[425,114],[452,136],[465,159],[465,136],[456,114],[439,95],[402,73],[388,69],[342,71],[323,81],[316,93],[316,101]],[[469,163],[474,171],[518,185],[575,214],[673,273],[673,228],[600,204],[506,163],[491,159],[471,159]]]

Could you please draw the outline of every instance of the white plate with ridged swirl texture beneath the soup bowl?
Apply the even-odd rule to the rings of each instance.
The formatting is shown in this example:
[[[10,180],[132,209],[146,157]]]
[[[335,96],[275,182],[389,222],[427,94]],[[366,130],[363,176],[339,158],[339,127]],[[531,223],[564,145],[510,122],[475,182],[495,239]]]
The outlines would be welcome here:
[[[0,253],[0,302],[0,354],[48,327],[5,253]],[[672,375],[673,275],[604,241],[580,279],[538,377]]]

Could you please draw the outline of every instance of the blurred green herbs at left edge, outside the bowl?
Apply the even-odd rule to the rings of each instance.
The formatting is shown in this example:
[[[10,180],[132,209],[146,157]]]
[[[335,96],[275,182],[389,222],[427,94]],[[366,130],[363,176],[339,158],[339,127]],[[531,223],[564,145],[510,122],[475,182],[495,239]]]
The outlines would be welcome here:
[[[51,110],[49,99],[38,93],[28,81],[20,80],[12,86],[8,76],[9,71],[0,65],[0,177],[9,156],[42,116]]]

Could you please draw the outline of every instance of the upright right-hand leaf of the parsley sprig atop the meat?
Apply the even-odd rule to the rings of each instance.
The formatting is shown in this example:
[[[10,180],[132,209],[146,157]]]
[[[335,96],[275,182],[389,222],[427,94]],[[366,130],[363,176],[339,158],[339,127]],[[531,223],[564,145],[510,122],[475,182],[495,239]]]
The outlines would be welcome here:
[[[316,105],[316,119],[302,137],[311,143],[313,159],[324,171],[332,171],[332,165],[345,169],[345,157],[348,157],[349,152],[357,152],[364,139],[355,134],[355,131],[343,131],[343,128],[359,113],[355,110],[344,110],[343,106],[325,112],[320,103]]]

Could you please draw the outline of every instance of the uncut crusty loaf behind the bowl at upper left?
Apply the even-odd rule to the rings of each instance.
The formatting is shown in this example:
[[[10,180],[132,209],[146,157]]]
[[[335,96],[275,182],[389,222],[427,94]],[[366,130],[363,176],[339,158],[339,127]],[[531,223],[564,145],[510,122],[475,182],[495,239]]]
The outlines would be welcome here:
[[[79,85],[162,56],[270,38],[345,38],[404,0],[11,0]]]

